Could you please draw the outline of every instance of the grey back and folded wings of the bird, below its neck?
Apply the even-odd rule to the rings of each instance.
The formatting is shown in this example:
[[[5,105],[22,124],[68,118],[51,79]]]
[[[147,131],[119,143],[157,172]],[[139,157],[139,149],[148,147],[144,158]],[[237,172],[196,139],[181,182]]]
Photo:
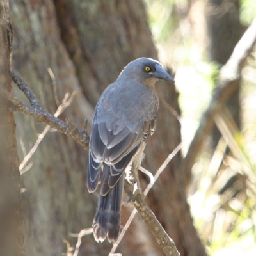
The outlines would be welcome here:
[[[88,188],[92,187],[92,191],[97,188],[100,172],[98,166],[104,162],[109,170],[102,175],[102,195],[106,195],[115,186],[132,156],[140,145],[147,143],[148,136],[156,127],[156,96],[152,92],[144,92],[144,97],[141,97],[142,92],[138,92],[135,95],[138,99],[134,99],[134,95],[122,97],[122,93],[124,90],[113,95],[111,88],[107,93],[104,92],[93,120]]]

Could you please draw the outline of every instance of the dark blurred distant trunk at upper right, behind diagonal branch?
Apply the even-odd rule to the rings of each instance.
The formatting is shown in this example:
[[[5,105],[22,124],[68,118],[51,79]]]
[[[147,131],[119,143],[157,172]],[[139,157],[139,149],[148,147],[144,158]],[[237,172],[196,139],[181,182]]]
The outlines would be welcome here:
[[[207,26],[209,31],[210,61],[225,65],[234,47],[242,36],[243,27],[239,21],[239,0],[209,0]],[[237,83],[240,83],[237,81]],[[239,86],[227,100],[226,106],[240,128]],[[212,148],[220,140],[220,131],[216,125],[212,131]]]

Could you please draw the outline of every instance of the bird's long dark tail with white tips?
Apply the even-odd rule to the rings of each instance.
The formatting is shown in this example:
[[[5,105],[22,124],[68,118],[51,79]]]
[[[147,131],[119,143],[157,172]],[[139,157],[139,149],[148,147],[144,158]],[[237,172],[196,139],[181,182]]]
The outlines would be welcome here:
[[[104,168],[106,168],[104,166]],[[110,168],[108,166],[108,168]],[[97,242],[108,237],[109,243],[115,242],[119,236],[124,174],[110,189],[107,195],[99,195],[96,214],[93,219],[93,234]]]

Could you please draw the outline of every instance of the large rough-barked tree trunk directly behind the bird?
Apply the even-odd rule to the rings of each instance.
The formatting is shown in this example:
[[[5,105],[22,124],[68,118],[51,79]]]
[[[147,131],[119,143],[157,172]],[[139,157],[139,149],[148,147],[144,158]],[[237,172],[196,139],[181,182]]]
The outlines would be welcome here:
[[[84,118],[92,122],[100,94],[129,61],[142,56],[157,58],[142,1],[12,0],[11,3],[15,32],[13,69],[51,113],[57,108],[55,89],[60,99],[66,92],[76,90],[76,98],[61,118],[70,118],[80,128]],[[56,77],[56,86],[52,85],[49,68]],[[179,111],[175,87],[161,84],[159,90]],[[45,125],[20,114],[17,121],[17,137],[28,151]],[[179,143],[180,124],[161,105],[156,134],[147,145],[143,165],[156,172]],[[20,145],[19,152],[22,159]],[[49,132],[33,155],[33,167],[22,175],[26,188],[22,207],[28,255],[61,255],[66,251],[62,239],[70,241],[72,246],[76,244],[68,232],[92,227],[97,198],[86,188],[87,155],[75,141],[58,132]],[[181,161],[178,154],[168,164],[148,202],[181,255],[205,255],[186,202],[182,181],[186,173],[178,173]],[[129,212],[130,209],[123,207],[122,224]],[[118,252],[123,256],[163,255],[147,227],[138,224],[139,221],[137,218],[129,228]],[[110,248],[111,244],[97,244],[89,235],[83,237],[79,255],[108,255]]]

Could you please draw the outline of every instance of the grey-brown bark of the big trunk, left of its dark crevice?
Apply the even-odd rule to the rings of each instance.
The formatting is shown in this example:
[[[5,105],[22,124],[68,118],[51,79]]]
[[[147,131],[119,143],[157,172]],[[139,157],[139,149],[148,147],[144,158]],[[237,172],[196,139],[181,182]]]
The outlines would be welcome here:
[[[60,101],[65,93],[77,92],[72,105],[61,115],[82,127],[84,118],[92,122],[93,109],[81,95],[74,66],[60,39],[52,1],[10,1],[13,21],[13,70],[18,72],[50,113],[57,109],[54,86],[48,68],[56,78]],[[15,88],[15,95],[28,102]],[[31,149],[45,124],[17,113],[17,140]],[[23,159],[21,143],[19,159]],[[48,132],[22,175],[22,209],[24,211],[27,255],[61,255],[66,252],[63,239],[71,244],[76,238],[69,232],[91,227],[97,198],[86,188],[86,151],[59,132]],[[92,236],[86,237],[85,255],[100,255]],[[106,255],[106,251],[104,253]]]

